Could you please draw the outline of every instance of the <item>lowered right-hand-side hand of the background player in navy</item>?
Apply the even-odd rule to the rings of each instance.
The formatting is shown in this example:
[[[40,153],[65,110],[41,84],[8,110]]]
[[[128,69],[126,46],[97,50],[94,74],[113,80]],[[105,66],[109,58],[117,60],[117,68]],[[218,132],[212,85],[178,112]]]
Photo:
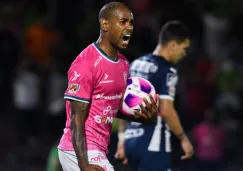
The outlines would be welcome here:
[[[181,148],[185,153],[185,155],[181,156],[182,160],[189,159],[194,154],[192,144],[186,136],[181,139]]]

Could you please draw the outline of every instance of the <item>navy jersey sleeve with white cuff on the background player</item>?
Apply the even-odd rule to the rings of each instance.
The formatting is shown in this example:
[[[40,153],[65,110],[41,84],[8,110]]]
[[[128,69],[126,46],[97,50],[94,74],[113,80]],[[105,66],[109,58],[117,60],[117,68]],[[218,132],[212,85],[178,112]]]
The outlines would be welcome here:
[[[160,86],[160,99],[168,99],[174,101],[177,82],[178,75],[175,70],[168,70],[167,72],[164,72]]]

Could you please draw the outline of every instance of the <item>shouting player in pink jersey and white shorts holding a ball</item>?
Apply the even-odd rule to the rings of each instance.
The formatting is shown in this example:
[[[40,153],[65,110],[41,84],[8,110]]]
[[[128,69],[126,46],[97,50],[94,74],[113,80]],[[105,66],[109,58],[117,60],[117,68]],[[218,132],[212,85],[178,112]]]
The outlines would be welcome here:
[[[113,171],[106,158],[112,120],[117,117],[134,122],[156,122],[158,103],[136,116],[118,112],[129,73],[125,49],[133,32],[133,14],[120,2],[105,5],[99,13],[100,37],[85,48],[68,71],[67,121],[58,146],[64,171]]]

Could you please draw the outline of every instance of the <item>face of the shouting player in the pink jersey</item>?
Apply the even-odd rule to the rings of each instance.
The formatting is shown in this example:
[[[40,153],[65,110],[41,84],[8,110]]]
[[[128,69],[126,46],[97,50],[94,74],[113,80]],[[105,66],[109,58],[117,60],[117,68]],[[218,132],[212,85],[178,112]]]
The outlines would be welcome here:
[[[133,32],[134,18],[132,12],[125,7],[118,7],[109,19],[108,36],[113,46],[125,49]]]

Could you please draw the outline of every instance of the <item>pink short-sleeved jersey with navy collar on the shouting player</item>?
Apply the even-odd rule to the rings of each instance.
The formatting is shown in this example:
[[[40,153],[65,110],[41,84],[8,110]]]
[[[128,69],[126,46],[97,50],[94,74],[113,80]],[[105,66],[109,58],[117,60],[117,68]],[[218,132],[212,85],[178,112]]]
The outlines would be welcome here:
[[[68,71],[68,89],[64,98],[90,103],[85,122],[88,150],[108,152],[112,120],[116,117],[122,94],[126,88],[129,63],[118,53],[112,60],[95,44],[84,49]],[[66,128],[58,146],[61,150],[74,150],[70,129],[70,102],[66,102]]]

